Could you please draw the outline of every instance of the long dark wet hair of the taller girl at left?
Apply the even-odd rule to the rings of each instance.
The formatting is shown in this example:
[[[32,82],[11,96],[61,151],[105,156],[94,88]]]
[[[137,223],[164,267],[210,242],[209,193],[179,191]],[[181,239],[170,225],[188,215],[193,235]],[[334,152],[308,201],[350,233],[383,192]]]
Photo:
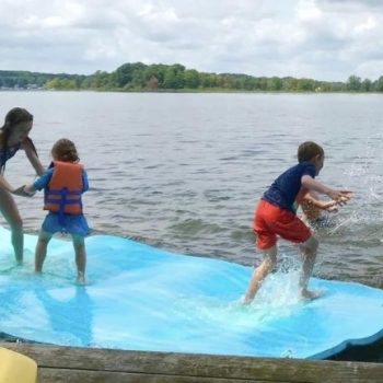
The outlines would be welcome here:
[[[0,130],[2,131],[2,159],[1,159],[1,169],[0,171],[3,172],[5,169],[5,162],[8,159],[8,151],[9,151],[9,146],[8,146],[8,140],[9,137],[11,136],[12,129],[14,126],[21,124],[21,123],[30,123],[33,121],[33,115],[22,108],[22,107],[14,107],[11,111],[9,111],[5,115],[5,119],[4,119],[4,125],[0,128]],[[25,141],[27,144],[30,144],[30,147],[32,148],[32,150],[36,153],[37,155],[37,151],[36,148],[33,143],[33,141],[31,140],[30,137],[25,138]]]

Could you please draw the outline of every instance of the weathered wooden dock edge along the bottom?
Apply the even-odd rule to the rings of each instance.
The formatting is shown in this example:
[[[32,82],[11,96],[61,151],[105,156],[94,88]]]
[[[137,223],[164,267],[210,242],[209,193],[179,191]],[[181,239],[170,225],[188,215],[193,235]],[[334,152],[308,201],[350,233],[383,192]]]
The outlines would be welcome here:
[[[0,347],[34,359],[38,364],[38,383],[383,382],[383,363],[123,351],[24,343],[0,343]]]

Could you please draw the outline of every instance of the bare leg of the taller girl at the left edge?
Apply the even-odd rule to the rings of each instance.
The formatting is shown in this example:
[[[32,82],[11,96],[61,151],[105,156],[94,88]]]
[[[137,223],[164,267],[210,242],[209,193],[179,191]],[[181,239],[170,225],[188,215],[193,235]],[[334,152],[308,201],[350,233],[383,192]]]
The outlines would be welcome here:
[[[11,227],[12,246],[14,248],[16,262],[18,264],[22,264],[24,252],[23,221],[13,197],[4,189],[0,189],[0,211]]]

